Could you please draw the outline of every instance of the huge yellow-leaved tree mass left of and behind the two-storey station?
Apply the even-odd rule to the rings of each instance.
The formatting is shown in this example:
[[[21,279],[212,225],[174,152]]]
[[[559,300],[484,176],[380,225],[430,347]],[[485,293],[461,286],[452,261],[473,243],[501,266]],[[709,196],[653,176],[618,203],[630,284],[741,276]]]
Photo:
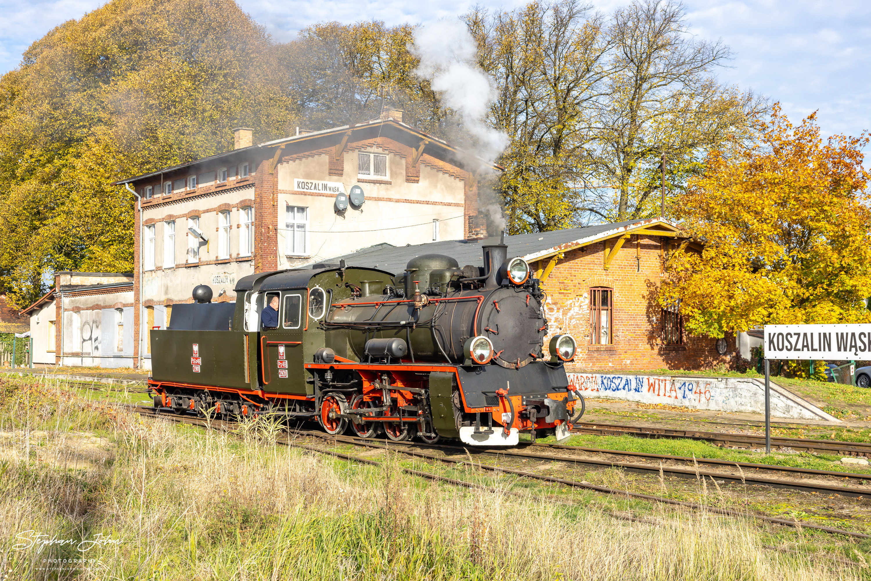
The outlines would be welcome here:
[[[231,0],[114,0],[32,44],[0,79],[0,286],[21,306],[44,273],[132,271],[111,182],[225,151],[234,126],[286,135],[271,51]]]

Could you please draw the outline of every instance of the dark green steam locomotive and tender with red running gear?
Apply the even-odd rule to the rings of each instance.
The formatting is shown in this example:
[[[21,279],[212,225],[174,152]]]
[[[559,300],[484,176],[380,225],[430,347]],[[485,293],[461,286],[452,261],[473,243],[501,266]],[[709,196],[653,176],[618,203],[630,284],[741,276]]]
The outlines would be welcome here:
[[[425,254],[401,274],[343,260],[251,274],[235,303],[199,286],[152,331],[154,406],[396,441],[564,439],[584,411],[564,370],[577,344],[557,334],[544,352],[544,291],[506,254],[500,241],[483,246],[483,267]],[[264,328],[273,297],[279,324]]]

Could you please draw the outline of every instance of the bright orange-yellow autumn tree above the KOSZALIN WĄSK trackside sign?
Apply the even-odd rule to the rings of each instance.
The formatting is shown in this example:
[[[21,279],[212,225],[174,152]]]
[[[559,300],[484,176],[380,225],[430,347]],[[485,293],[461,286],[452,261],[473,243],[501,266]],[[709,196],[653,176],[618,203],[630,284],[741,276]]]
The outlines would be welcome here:
[[[760,139],[711,152],[679,198],[686,233],[659,302],[679,303],[692,334],[722,337],[766,323],[869,322],[871,208],[858,138],[823,141],[775,106]]]

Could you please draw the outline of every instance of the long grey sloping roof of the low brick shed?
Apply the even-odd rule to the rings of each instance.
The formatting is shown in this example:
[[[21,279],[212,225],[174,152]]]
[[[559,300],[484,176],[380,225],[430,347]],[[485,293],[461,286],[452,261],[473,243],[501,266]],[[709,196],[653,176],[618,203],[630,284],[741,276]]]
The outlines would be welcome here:
[[[568,249],[590,243],[603,238],[610,238],[626,230],[639,226],[652,226],[654,223],[665,223],[677,227],[666,220],[628,220],[609,224],[597,224],[584,228],[568,228],[531,234],[515,234],[505,237],[508,246],[508,256],[523,256],[526,260],[538,260],[550,256],[560,250]],[[429,242],[414,246],[395,247],[388,243],[363,248],[355,253],[336,256],[324,262],[338,262],[344,259],[348,266],[370,267],[387,270],[391,273],[401,273],[408,260],[421,254],[447,254],[456,259],[461,267],[470,264],[481,266],[483,253],[481,247],[484,244],[498,244],[498,238],[485,240],[445,240],[443,242]]]

